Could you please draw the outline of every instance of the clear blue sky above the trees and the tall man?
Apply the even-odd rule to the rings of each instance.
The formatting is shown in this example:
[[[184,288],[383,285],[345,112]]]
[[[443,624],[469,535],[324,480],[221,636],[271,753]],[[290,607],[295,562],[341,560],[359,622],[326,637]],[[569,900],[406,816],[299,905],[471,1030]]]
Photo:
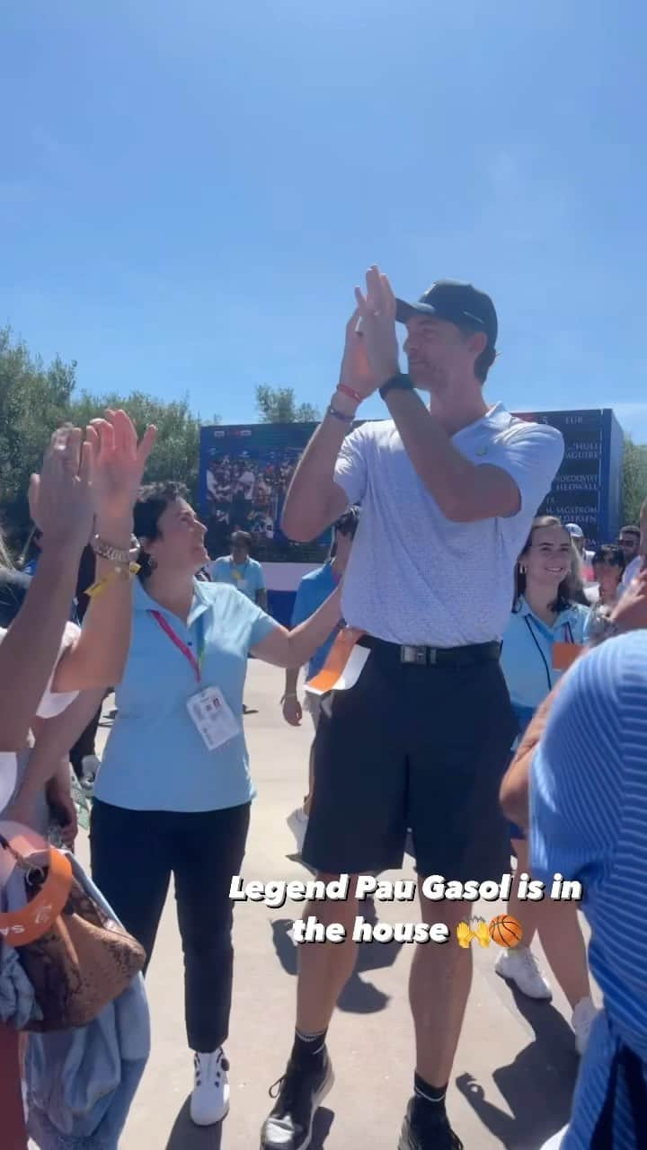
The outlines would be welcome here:
[[[0,323],[244,422],[258,383],[327,402],[376,261],[490,292],[493,400],[647,440],[646,33],[638,0],[12,5]]]

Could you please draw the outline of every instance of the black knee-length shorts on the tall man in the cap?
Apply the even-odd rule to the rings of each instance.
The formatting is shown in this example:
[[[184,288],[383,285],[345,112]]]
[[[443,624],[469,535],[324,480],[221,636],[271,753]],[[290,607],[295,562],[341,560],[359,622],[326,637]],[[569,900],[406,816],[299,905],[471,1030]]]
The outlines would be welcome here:
[[[330,874],[402,866],[501,880],[510,865],[498,788],[517,723],[497,661],[402,664],[378,644],[359,680],[324,702],[303,859]]]

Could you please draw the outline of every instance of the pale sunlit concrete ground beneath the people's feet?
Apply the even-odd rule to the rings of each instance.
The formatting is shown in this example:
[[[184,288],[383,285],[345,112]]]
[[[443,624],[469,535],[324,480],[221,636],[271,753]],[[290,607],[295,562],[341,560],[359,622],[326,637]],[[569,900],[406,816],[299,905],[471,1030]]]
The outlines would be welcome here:
[[[311,738],[283,722],[282,673],[250,664],[246,720],[259,796],[253,807],[246,881],[304,879],[292,857],[287,814],[300,802]],[[101,728],[105,731],[105,728]],[[181,765],[178,765],[180,767]],[[82,836],[85,838],[85,836]],[[86,843],[81,844],[86,858]],[[386,875],[385,877],[399,877]],[[413,877],[409,867],[405,877]],[[375,903],[380,920],[416,921],[416,903]],[[489,919],[503,908],[482,904]],[[475,911],[478,913],[478,908]],[[183,1025],[181,950],[169,898],[147,977],[153,1025],[151,1060],[121,1150],[257,1150],[292,1037],[296,949],[287,936],[297,904],[279,911],[258,903],[235,912],[235,984],[230,1040],[231,1109],[222,1129],[188,1118],[191,1056]],[[439,904],[439,920],[442,904]],[[515,996],[494,973],[497,949],[474,950],[474,983],[448,1096],[466,1150],[539,1150],[569,1116],[578,1068],[568,1004]],[[329,1034],[336,1082],[319,1112],[312,1150],[395,1150],[411,1094],[413,1035],[408,1006],[410,945],[363,944]]]

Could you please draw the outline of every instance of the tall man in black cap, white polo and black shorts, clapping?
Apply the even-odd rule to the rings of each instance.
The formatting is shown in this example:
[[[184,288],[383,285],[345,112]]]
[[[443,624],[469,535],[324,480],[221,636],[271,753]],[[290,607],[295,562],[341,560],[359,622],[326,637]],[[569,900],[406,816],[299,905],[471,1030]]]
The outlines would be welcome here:
[[[353,688],[332,698],[315,742],[317,784],[303,849],[325,881],[399,867],[411,828],[421,917],[425,876],[501,879],[509,865],[497,789],[515,723],[498,666],[512,572],[563,455],[561,435],[488,408],[497,319],[470,284],[435,283],[396,301],[375,267],[347,328],[341,383],[294,477],[283,528],[315,538],[349,503],[361,520],[344,578],[343,613],[368,647]],[[409,375],[395,321],[406,324]],[[358,331],[358,321],[361,330]],[[345,439],[363,399],[380,390],[391,419]],[[425,407],[416,390],[431,396]],[[328,708],[326,708],[328,710]],[[357,902],[306,914],[343,919],[347,941],[300,949],[297,1028],[264,1150],[304,1150],[332,1086],[326,1032],[350,976]],[[450,934],[465,915],[443,905]],[[471,983],[469,950],[420,946],[410,999],[413,1097],[399,1150],[458,1150],[444,1110]]]

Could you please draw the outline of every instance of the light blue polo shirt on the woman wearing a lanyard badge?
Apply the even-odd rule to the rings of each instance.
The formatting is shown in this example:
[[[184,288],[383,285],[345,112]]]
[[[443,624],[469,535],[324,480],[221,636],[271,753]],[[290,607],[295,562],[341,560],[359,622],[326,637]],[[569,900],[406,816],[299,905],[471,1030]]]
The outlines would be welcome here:
[[[199,642],[196,621],[203,619],[200,684],[152,611],[159,611],[193,652]],[[239,735],[208,751],[187,700],[204,687],[219,687],[242,718],[248,654],[276,626],[233,586],[197,580],[187,626],[136,580],[130,652],[96,797],[131,811],[216,811],[249,803],[256,792],[242,722]]]

